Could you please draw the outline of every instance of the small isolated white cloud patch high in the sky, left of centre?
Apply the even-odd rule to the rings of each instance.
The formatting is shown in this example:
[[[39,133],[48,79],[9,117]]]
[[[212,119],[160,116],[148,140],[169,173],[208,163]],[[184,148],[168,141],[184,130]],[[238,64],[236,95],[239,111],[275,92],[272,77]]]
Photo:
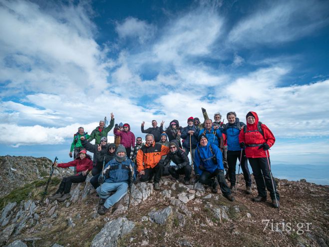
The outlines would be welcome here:
[[[123,22],[116,23],[115,30],[120,38],[137,37],[140,43],[153,38],[156,28],[146,21],[134,17],[127,17]]]

